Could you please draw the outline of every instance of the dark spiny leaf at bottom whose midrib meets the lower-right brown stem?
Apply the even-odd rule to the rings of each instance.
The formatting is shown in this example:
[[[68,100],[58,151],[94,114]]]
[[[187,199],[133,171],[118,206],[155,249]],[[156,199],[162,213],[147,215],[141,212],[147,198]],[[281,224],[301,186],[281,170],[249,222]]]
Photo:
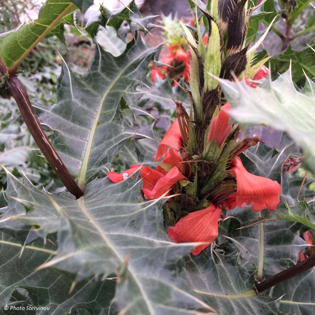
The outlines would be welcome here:
[[[254,274],[242,268],[236,257],[207,249],[185,263],[185,275],[203,301],[220,315],[279,314],[279,301],[256,296]]]

